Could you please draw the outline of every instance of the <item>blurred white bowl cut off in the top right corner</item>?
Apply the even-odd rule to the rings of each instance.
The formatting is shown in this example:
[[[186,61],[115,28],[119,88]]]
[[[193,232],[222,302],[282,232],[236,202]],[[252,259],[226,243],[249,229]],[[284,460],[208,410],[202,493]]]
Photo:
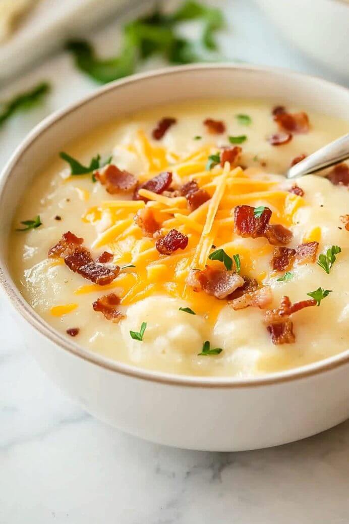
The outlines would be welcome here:
[[[348,0],[257,0],[292,44],[349,77]]]

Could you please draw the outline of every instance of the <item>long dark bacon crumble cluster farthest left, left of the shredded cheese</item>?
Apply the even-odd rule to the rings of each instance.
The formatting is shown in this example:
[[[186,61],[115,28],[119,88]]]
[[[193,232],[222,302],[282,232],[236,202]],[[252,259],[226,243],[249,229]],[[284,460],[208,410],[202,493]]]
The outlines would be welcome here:
[[[49,258],[62,257],[65,264],[74,273],[82,275],[99,286],[110,284],[118,276],[119,266],[109,269],[94,262],[89,250],[82,246],[83,242],[83,238],[78,238],[71,231],[67,231],[62,235],[58,244],[51,247],[48,256]]]

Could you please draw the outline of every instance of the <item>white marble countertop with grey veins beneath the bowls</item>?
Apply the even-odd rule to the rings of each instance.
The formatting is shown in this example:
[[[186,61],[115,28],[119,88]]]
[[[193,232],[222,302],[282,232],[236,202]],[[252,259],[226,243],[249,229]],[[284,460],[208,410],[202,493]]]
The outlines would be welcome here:
[[[250,0],[219,2],[226,56],[341,81],[269,25]],[[95,35],[115,48],[118,22]],[[156,63],[148,67],[156,66]],[[0,100],[39,79],[54,90],[0,131],[3,165],[31,127],[96,89],[61,53],[5,86]],[[0,299],[0,524],[344,524],[349,521],[349,421],[310,439],[243,453],[170,449],[120,433],[65,398],[33,361]]]

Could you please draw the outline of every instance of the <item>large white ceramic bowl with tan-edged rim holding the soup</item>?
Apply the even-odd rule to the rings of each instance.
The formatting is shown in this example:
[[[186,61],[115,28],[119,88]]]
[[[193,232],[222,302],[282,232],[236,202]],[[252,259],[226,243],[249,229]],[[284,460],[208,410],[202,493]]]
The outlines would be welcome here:
[[[317,78],[227,64],[166,69],[109,84],[47,118],[10,159],[0,186],[0,281],[41,366],[96,417],[144,439],[196,450],[283,444],[345,420],[349,351],[249,379],[168,375],[110,361],[68,340],[31,309],[10,276],[6,246],[21,192],[71,139],[154,103],[235,96],[292,102],[349,121],[349,91]]]

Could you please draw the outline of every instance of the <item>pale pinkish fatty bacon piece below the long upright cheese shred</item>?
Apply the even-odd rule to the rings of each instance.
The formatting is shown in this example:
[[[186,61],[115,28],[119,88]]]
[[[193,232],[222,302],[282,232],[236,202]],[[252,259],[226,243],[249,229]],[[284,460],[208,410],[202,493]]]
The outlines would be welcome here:
[[[206,266],[203,271],[192,269],[189,274],[188,284],[194,289],[202,289],[216,298],[227,298],[235,289],[244,285],[243,278],[234,271],[217,269]]]

